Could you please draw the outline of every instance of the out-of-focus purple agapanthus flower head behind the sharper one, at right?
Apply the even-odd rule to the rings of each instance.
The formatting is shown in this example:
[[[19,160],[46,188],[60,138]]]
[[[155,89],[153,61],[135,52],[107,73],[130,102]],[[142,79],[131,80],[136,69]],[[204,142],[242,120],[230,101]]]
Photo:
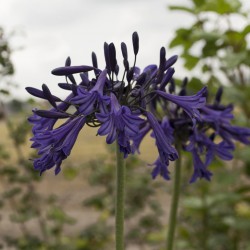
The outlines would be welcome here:
[[[173,80],[171,84],[170,92],[174,92]],[[170,98],[169,94],[157,91],[163,98],[155,99],[155,106],[161,107],[159,112],[155,109],[155,114],[162,117],[159,120],[162,128],[165,127],[163,129],[165,135],[169,136],[168,141],[170,142],[170,138],[173,138],[171,144],[179,143],[183,150],[191,153],[194,171],[190,182],[195,182],[197,178],[210,180],[212,177],[212,173],[209,171],[211,162],[215,157],[226,161],[231,160],[235,149],[235,141],[250,144],[250,129],[232,125],[233,105],[222,105],[220,103],[222,88],[218,89],[213,104],[207,103],[205,106],[199,106],[199,102],[204,101],[204,99],[200,99],[196,103],[197,105],[192,108],[191,100],[193,99],[195,102],[195,96],[205,96],[206,93],[203,88],[198,94],[187,98],[186,103],[190,101],[190,104],[185,108],[185,102],[182,102],[181,98],[185,98],[186,86],[187,79],[184,79],[179,95],[171,95]],[[177,104],[177,106],[174,107],[170,103],[170,107],[169,100],[172,100],[172,103]],[[180,107],[183,107],[185,113],[180,110]],[[166,114],[168,115],[167,123],[164,122]],[[193,120],[194,117],[196,117],[195,120]],[[164,179],[169,178],[167,169],[162,167],[159,159],[155,162],[155,166],[152,173],[153,177],[160,174]]]

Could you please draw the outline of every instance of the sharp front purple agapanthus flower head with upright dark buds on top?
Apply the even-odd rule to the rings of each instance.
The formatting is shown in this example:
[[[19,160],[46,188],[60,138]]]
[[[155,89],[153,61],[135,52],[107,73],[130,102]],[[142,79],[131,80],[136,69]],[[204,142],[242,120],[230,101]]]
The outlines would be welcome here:
[[[42,90],[26,88],[30,94],[47,100],[52,106],[48,110],[34,109],[29,118],[33,124],[32,146],[38,150],[39,156],[34,160],[35,169],[42,173],[56,166],[55,172],[58,173],[81,129],[87,125],[99,128],[97,134],[106,135],[108,144],[116,141],[125,158],[139,152],[144,136],[152,131],[159,152],[152,176],[155,178],[160,174],[169,179],[169,161],[178,158],[174,127],[171,129],[171,117],[163,121],[158,119],[157,103],[167,102],[164,110],[171,106],[169,104],[174,105],[178,112],[186,112],[188,119],[196,124],[201,117],[199,109],[205,105],[206,88],[192,96],[174,95],[173,91],[167,93],[166,86],[169,83],[172,86],[177,56],[166,59],[166,50],[162,47],[159,65],[150,64],[141,70],[136,66],[139,53],[136,32],[132,35],[132,44],[134,60],[130,64],[127,46],[121,43],[123,67],[118,65],[115,45],[105,42],[105,67],[99,68],[93,52],[92,65],[72,66],[68,57],[64,66],[52,70],[52,74],[65,77],[66,81],[58,84],[70,92],[65,100],[53,95],[46,85]],[[75,74],[80,74],[80,82]],[[56,128],[59,119],[62,125]]]

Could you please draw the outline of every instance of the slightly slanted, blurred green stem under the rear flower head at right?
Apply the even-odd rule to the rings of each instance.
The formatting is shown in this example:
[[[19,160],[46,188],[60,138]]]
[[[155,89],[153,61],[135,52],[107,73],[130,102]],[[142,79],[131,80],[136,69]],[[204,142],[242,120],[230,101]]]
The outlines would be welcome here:
[[[179,149],[179,147],[177,147]],[[180,195],[180,184],[181,184],[181,154],[180,150],[178,150],[179,159],[176,160],[175,165],[175,176],[174,176],[174,190],[171,200],[171,208],[169,214],[169,226],[167,233],[167,250],[172,250],[174,247],[174,236],[175,236],[175,227],[176,227],[176,218],[178,211],[178,202]]]

